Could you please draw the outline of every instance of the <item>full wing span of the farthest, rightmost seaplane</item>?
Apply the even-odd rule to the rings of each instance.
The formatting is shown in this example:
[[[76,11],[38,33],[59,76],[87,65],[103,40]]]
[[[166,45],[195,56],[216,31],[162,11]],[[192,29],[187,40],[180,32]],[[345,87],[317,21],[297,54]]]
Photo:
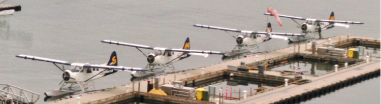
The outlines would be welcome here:
[[[270,13],[265,13],[264,15],[270,15],[273,16]],[[355,22],[355,21],[338,21],[338,20],[319,20],[319,19],[310,19],[310,18],[302,18],[302,17],[295,17],[295,16],[288,16],[288,15],[278,15],[279,17],[284,18],[291,18],[291,19],[299,19],[299,20],[310,20],[310,21],[316,21],[316,22],[334,22],[334,23],[348,23],[348,24],[364,24],[362,22]]]

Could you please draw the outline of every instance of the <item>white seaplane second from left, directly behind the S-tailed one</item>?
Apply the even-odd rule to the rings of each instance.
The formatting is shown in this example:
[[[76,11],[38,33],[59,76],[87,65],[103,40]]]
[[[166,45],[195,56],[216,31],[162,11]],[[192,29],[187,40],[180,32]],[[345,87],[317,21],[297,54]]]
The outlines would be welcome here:
[[[234,52],[217,52],[217,51],[201,51],[201,50],[190,50],[189,38],[186,38],[185,44],[181,49],[170,49],[170,48],[161,48],[161,47],[149,47],[144,45],[137,45],[131,43],[123,43],[116,41],[103,40],[103,43],[122,45],[122,46],[130,46],[138,49],[145,57],[147,57],[148,64],[146,68],[149,68],[150,71],[146,72],[138,72],[132,71],[131,75],[133,77],[144,77],[152,74],[157,74],[159,72],[165,72],[165,68],[172,68],[174,71],[173,63],[184,58],[189,57],[190,55],[199,55],[208,57],[209,54],[219,54],[225,57],[233,56],[239,53]],[[149,53],[146,55],[139,48],[154,50],[153,53]],[[154,66],[161,66],[161,68],[153,68]]]

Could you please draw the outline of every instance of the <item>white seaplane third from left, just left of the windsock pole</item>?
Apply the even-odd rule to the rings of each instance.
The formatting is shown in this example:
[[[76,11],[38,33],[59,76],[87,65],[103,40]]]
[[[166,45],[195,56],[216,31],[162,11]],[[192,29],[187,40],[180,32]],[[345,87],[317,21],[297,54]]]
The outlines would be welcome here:
[[[251,48],[258,48],[258,44],[269,41],[272,38],[287,40],[288,38],[284,37],[284,36],[297,36],[297,37],[304,37],[305,36],[304,34],[299,34],[299,33],[272,32],[270,22],[267,24],[267,28],[264,32],[263,31],[255,32],[255,31],[248,31],[248,30],[238,30],[238,29],[215,27],[215,26],[208,26],[208,25],[201,25],[201,24],[196,24],[193,26],[201,27],[201,28],[208,28],[208,29],[218,29],[218,30],[224,30],[224,31],[241,32],[242,34],[239,36],[232,35],[233,38],[236,39],[236,42],[237,42],[237,45],[234,47],[233,51],[236,51],[235,49],[237,49],[237,48],[238,48],[238,51],[240,51],[242,47],[247,47],[247,48],[249,48],[249,50],[251,50]]]

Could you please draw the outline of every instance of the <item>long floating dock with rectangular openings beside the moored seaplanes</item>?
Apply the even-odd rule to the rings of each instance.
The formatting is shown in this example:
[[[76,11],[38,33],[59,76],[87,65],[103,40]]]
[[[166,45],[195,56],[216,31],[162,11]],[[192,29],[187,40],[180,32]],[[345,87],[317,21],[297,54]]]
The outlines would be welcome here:
[[[369,39],[354,36],[336,36],[330,38],[330,44],[334,44],[338,48],[348,48],[353,46],[380,47],[380,40]],[[328,40],[318,40],[317,45],[325,45]],[[328,44],[327,44],[328,45]],[[245,81],[252,79],[254,82],[270,82],[275,87],[251,92],[251,89],[240,89],[239,96],[235,98],[227,98],[226,95],[218,95],[216,89],[216,98],[220,97],[219,103],[294,103],[322,94],[352,85],[373,77],[380,76],[379,57],[371,57],[368,62],[365,58],[352,59],[335,56],[325,56],[311,54],[308,51],[307,44],[295,45],[290,48],[283,48],[268,52],[267,54],[259,54],[258,57],[250,56],[236,60],[216,63],[204,66],[204,70],[200,68],[174,73],[160,78],[160,85],[167,84],[169,81],[182,81],[184,86],[204,87],[221,81],[229,80],[229,74],[239,77],[233,81]],[[267,60],[265,61],[265,55]],[[259,71],[250,70],[248,72],[234,70],[241,62],[247,65],[256,65],[261,62],[277,65],[284,60],[290,58],[312,58],[323,61],[337,61],[353,63],[346,67],[341,67],[336,71],[327,71],[321,75],[302,75],[302,79],[298,79],[294,75],[283,76],[276,71],[266,70],[264,74],[258,74]],[[205,74],[204,74],[205,71]],[[288,84],[285,84],[285,79]],[[249,82],[250,83],[250,82]],[[126,87],[129,86],[129,87]],[[216,103],[210,101],[196,100],[195,98],[184,98],[178,96],[165,96],[150,94],[147,92],[147,81],[133,82],[131,84],[122,85],[115,89],[100,91],[96,93],[88,93],[80,96],[80,98],[68,98],[51,103],[129,103],[129,102],[146,102],[146,103]],[[223,89],[223,94],[225,94]],[[235,89],[238,90],[238,89]],[[243,92],[246,90],[246,96]]]

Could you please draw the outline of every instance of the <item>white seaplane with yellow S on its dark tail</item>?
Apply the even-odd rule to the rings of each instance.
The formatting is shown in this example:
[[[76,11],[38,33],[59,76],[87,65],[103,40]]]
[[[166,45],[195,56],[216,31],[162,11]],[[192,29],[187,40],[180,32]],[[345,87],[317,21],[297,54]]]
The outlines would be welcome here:
[[[62,82],[63,84],[59,89],[45,92],[44,94],[47,97],[71,95],[79,92],[94,91],[94,80],[105,77],[107,75],[111,75],[113,73],[116,73],[117,71],[148,71],[145,68],[118,66],[118,60],[115,51],[112,52],[109,61],[105,64],[72,63],[68,61],[61,61],[22,54],[16,55],[16,57],[51,62],[63,72],[63,80],[59,83],[59,85],[61,85]],[[62,68],[60,68],[57,64],[61,64]],[[65,69],[63,65],[71,65],[71,68]],[[67,84],[70,84],[70,86],[67,88],[63,88]],[[79,86],[74,86],[75,84],[78,84]]]

